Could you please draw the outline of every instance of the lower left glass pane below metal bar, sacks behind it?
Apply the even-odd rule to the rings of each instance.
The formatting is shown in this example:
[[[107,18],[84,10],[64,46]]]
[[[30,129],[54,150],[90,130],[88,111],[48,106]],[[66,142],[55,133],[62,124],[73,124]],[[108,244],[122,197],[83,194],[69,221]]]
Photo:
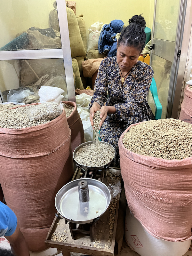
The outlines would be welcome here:
[[[2,102],[39,102],[38,91],[42,85],[63,89],[63,100],[68,100],[63,59],[0,61]],[[19,95],[18,91],[22,94]],[[15,97],[13,93],[16,93]]]

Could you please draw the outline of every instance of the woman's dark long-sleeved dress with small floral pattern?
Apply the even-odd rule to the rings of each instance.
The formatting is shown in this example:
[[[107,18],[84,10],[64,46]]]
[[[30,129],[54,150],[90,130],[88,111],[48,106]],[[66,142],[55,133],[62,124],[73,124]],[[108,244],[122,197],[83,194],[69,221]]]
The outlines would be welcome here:
[[[152,77],[153,69],[138,61],[122,85],[116,57],[106,58],[100,64],[89,107],[93,102],[101,107],[106,102],[107,106],[116,108],[116,113],[108,114],[100,130],[101,140],[116,149],[116,165],[119,164],[118,140],[124,130],[130,124],[154,119],[146,100]]]

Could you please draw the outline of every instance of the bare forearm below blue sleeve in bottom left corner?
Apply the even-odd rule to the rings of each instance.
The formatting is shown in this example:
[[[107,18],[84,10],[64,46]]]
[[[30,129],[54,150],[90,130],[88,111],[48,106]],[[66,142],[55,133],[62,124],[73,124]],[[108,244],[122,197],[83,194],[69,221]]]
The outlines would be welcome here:
[[[18,223],[15,232],[11,236],[5,236],[5,238],[10,242],[14,256],[30,256],[27,243]]]

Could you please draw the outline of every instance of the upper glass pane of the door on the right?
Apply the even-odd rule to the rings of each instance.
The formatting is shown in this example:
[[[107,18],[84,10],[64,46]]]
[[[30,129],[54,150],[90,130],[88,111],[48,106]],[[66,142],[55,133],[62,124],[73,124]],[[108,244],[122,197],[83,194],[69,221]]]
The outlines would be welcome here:
[[[175,41],[180,0],[157,0],[154,38]]]

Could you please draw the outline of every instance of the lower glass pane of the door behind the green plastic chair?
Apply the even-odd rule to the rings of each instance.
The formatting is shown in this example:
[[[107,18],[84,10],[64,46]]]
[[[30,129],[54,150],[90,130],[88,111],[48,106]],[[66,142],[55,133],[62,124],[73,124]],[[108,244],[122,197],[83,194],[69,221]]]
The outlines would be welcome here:
[[[154,54],[151,54],[151,66],[154,70],[154,78],[157,85],[157,92],[159,101],[163,107],[162,109],[162,119],[166,118],[166,110],[167,110],[167,99],[168,99],[168,92],[169,92],[169,83],[170,83],[170,73],[172,62],[165,60],[161,57],[158,57]],[[153,98],[151,93],[148,95],[148,103],[151,107],[152,111],[154,112],[154,104]]]

